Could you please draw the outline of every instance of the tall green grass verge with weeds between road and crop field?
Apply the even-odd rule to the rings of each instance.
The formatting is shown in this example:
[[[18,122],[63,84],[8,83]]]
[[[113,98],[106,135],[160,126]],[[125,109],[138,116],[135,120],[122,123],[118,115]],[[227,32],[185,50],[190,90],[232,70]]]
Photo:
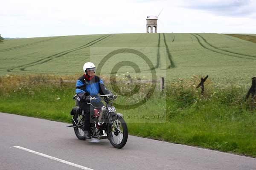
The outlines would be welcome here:
[[[51,75],[1,77],[0,111],[71,122],[75,85],[60,84],[59,78]],[[77,76],[62,78],[73,80]],[[157,91],[158,95],[152,96],[140,109],[141,113],[151,113],[165,106],[166,122],[128,123],[129,133],[256,157],[255,102],[244,99],[248,89],[214,85],[207,79],[205,93],[201,95],[201,90],[196,88],[199,78],[167,82],[164,95]],[[128,115],[134,110],[119,111]]]

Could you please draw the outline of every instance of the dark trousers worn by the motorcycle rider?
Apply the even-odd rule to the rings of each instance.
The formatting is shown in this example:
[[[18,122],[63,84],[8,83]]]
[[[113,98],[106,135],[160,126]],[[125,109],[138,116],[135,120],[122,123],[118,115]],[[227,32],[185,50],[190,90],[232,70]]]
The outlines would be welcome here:
[[[103,106],[102,102],[93,103],[93,106],[101,108]],[[94,107],[87,104],[84,101],[79,102],[79,107],[84,111],[84,130],[90,130],[90,123],[93,123],[92,115],[94,114]]]

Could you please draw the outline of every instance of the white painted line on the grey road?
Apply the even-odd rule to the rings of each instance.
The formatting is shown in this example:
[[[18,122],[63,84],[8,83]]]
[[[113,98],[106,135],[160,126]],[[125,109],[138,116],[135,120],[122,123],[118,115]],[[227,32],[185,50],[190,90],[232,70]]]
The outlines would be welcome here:
[[[62,159],[58,159],[58,158],[55,158],[55,157],[46,155],[46,154],[44,154],[44,153],[39,153],[39,152],[36,152],[36,151],[34,151],[34,150],[27,149],[27,148],[25,148],[25,147],[20,147],[20,146],[14,146],[14,147],[16,147],[16,148],[18,148],[18,149],[21,149],[21,150],[25,150],[25,151],[27,151],[27,152],[35,153],[35,154],[40,155],[40,156],[44,156],[44,157],[46,157],[46,158],[49,158],[49,159],[52,159],[52,160],[55,160],[55,161],[59,161],[59,162],[64,163],[64,164],[71,165],[71,166],[73,166],[73,167],[78,167],[78,168],[80,168],[80,169],[82,169],[82,170],[93,170],[93,169],[90,169],[90,168],[88,168],[88,167],[83,167],[83,166],[81,166],[81,165],[79,165],[79,164],[74,164],[74,163],[72,163],[72,162],[64,161],[64,160],[62,160]]]

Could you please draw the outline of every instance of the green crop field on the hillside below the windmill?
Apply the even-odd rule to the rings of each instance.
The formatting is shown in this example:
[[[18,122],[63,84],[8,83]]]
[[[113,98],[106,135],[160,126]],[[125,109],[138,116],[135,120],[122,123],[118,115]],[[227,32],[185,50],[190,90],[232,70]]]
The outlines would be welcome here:
[[[215,83],[248,84],[254,77],[256,44],[225,34],[102,34],[7,40],[0,45],[0,74],[77,74],[84,62],[99,64],[109,52],[133,48],[153,63],[157,77],[167,80],[209,75]],[[151,79],[150,68],[134,54],[112,57],[102,68],[108,77],[117,62],[136,63],[141,74],[122,67],[133,77]],[[120,77],[122,78],[122,77]]]

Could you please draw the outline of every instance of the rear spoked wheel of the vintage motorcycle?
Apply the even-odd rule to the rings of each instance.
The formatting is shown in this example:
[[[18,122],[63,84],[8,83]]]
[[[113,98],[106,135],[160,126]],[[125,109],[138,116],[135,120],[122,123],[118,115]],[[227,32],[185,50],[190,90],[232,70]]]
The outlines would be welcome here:
[[[74,127],[74,131],[76,133],[76,137],[79,139],[79,140],[85,140],[85,137],[84,137],[84,130],[83,130],[83,127],[84,127],[84,121],[81,120],[82,119],[82,115],[80,113],[78,114],[74,114],[73,116],[73,126],[76,126],[78,125],[79,127],[76,128]],[[81,122],[80,122],[81,120]],[[80,122],[80,123],[79,123]],[[79,123],[79,124],[78,124]]]

